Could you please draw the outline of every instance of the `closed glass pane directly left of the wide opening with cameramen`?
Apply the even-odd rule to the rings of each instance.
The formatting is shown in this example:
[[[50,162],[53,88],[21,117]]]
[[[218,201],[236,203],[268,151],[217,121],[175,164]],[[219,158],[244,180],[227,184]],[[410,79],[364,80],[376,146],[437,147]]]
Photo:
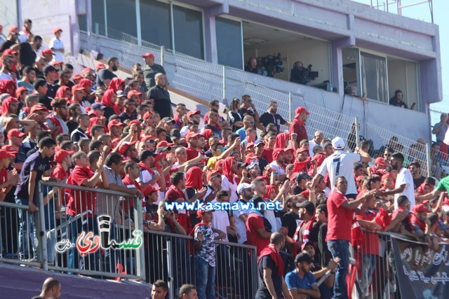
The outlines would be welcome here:
[[[218,63],[243,69],[241,22],[215,18]]]

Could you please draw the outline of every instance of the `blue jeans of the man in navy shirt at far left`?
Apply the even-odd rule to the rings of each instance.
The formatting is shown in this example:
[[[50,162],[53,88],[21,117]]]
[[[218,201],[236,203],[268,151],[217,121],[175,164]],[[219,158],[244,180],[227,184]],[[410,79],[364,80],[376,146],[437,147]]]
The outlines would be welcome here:
[[[28,200],[15,198],[16,204],[28,204]],[[26,258],[37,258],[36,246],[36,227],[34,225],[34,216],[30,211],[18,209],[19,214],[19,256],[21,260]],[[31,240],[31,244],[30,244]]]

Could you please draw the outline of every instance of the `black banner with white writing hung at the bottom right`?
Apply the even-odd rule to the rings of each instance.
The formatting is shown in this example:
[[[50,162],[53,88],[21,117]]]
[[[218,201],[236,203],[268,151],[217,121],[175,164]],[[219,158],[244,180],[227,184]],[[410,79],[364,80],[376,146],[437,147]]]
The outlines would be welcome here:
[[[437,299],[449,294],[449,244],[427,244],[391,236],[402,298]]]

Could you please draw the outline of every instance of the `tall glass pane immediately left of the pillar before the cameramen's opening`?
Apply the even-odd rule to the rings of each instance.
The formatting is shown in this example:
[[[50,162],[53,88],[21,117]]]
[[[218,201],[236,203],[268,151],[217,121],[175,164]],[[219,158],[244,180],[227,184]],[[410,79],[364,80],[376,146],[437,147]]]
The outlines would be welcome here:
[[[203,14],[189,8],[173,6],[175,50],[204,59]]]

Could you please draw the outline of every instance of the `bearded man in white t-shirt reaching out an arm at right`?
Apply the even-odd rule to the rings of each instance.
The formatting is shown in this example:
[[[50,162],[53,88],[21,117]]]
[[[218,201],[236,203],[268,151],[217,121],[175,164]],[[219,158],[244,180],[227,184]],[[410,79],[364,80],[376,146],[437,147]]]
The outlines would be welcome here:
[[[394,209],[398,209],[398,197],[405,195],[410,200],[410,209],[415,207],[415,189],[413,188],[413,176],[410,170],[403,167],[404,156],[401,153],[391,155],[391,168],[398,172],[396,185],[393,190],[383,191],[380,196],[394,195]]]

